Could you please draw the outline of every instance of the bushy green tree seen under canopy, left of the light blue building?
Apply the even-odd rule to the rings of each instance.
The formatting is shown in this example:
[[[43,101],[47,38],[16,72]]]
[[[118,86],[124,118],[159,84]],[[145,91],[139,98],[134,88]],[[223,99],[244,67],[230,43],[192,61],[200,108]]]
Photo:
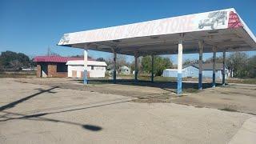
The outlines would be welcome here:
[[[170,58],[164,58],[161,56],[154,56],[154,74],[156,76],[162,75],[162,71],[170,68],[172,66],[172,62]],[[142,70],[146,73],[152,72],[152,64],[151,57],[146,56],[142,58]]]

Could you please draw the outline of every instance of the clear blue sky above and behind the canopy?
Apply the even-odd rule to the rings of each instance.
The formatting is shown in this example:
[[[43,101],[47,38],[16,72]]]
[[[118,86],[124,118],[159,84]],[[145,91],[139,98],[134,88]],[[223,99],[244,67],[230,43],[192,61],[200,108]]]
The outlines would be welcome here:
[[[184,14],[234,8],[256,34],[255,0],[0,0],[0,52],[12,50],[34,57],[48,47],[62,56],[83,54],[81,49],[56,46],[62,34],[169,18]],[[256,55],[256,51],[247,52]],[[93,58],[110,58],[110,53],[89,51]],[[218,53],[217,56],[221,56]],[[168,55],[177,63],[177,55]],[[203,59],[212,54],[203,54]],[[198,54],[184,54],[183,59]],[[134,57],[127,57],[129,62]]]

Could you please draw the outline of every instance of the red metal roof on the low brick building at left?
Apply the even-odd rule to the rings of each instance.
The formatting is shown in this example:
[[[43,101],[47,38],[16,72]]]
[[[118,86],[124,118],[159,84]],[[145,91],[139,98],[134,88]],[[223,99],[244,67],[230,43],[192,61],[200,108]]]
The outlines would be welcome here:
[[[82,60],[83,58],[71,58],[71,57],[60,57],[60,56],[37,56],[34,58],[34,62],[67,62],[69,60]],[[92,60],[88,58],[88,60]]]

